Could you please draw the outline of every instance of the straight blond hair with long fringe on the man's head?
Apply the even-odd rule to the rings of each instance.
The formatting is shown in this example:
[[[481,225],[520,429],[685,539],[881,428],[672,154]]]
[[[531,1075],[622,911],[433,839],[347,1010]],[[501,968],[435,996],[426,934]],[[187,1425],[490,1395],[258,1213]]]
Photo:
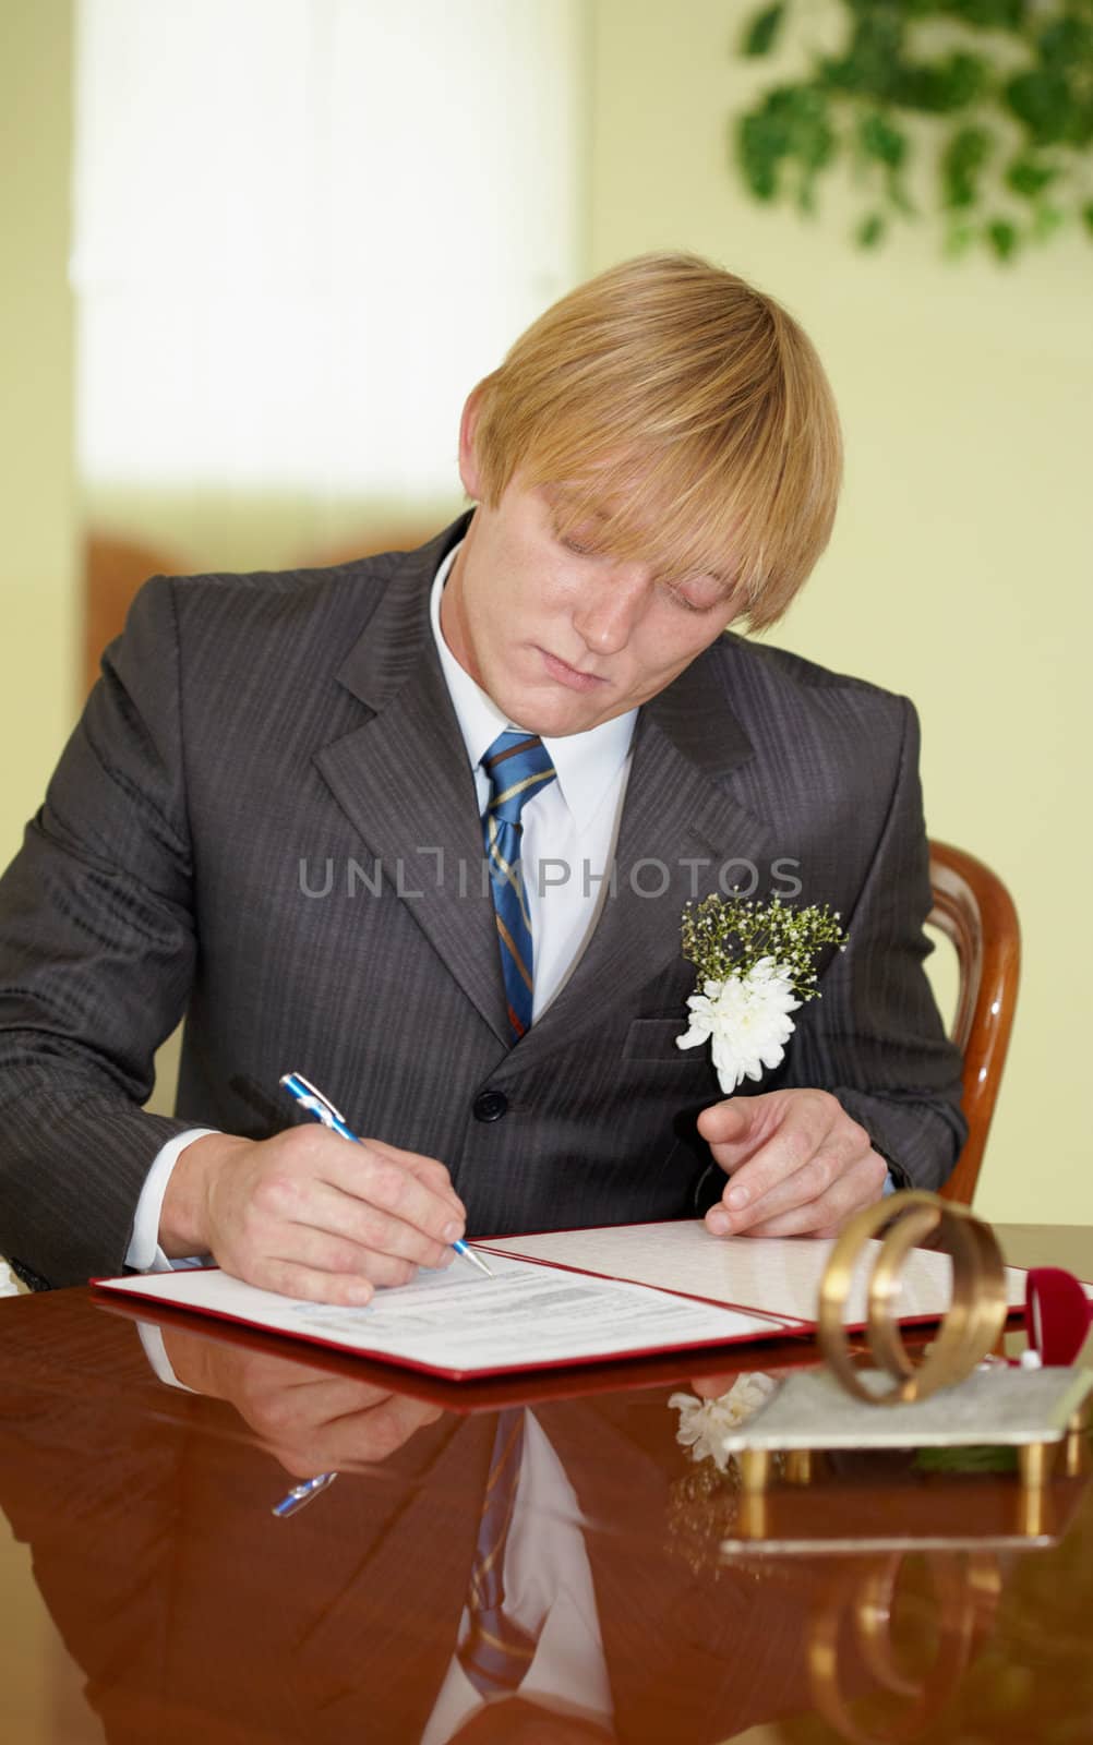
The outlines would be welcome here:
[[[564,487],[562,536],[672,578],[721,574],[754,630],[831,537],[842,438],[796,321],[695,255],[627,260],[553,304],[475,391],[485,503]]]

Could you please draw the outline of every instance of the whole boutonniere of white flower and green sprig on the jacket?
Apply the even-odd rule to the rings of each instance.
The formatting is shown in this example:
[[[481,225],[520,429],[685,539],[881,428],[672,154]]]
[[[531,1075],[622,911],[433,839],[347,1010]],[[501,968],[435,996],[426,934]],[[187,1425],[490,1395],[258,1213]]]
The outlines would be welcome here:
[[[815,958],[822,946],[845,949],[838,911],[789,909],[773,897],[704,897],[683,911],[683,956],[698,970],[688,1030],[677,1049],[712,1044],[718,1084],[726,1096],[746,1078],[779,1066],[793,1017],[815,1000]]]

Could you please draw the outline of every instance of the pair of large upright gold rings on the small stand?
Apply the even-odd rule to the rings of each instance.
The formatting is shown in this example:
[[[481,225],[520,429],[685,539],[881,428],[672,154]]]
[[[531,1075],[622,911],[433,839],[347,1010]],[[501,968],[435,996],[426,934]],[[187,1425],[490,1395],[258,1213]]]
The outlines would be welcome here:
[[[882,1235],[868,1290],[866,1338],[873,1365],[896,1382],[887,1393],[866,1387],[847,1344],[843,1323],[857,1262],[871,1237]],[[899,1276],[908,1253],[939,1232],[953,1263],[953,1300],[924,1363],[915,1365],[897,1321]],[[990,1225],[967,1206],[920,1188],[892,1194],[859,1211],[831,1249],[821,1279],[817,1331],[821,1349],[843,1387],[870,1405],[925,1399],[962,1382],[1006,1324],[1006,1267]]]

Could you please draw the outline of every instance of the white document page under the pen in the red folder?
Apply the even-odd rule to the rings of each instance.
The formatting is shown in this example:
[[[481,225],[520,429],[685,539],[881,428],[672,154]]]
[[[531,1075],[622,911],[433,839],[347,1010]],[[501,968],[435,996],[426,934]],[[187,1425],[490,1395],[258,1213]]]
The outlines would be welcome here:
[[[494,1279],[454,1262],[379,1290],[363,1309],[295,1302],[215,1269],[108,1279],[100,1290],[229,1316],[250,1326],[443,1373],[473,1375],[772,1337],[770,1319],[553,1267],[492,1258]]]

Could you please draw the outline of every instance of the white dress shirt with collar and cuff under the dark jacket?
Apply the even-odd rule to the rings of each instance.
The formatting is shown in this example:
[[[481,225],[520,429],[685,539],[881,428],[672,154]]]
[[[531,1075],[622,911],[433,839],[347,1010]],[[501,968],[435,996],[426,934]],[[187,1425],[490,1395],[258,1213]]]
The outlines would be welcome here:
[[[489,777],[482,757],[506,728],[522,731],[463,670],[440,630],[440,595],[459,546],[437,571],[430,597],[430,621],[443,681],[452,698],[456,719],[475,784],[478,811],[489,801]],[[543,740],[557,770],[557,782],[540,789],[527,801],[520,838],[524,885],[534,941],[533,1023],[553,1000],[567,979],[595,927],[608,897],[608,867],[615,853],[622,803],[630,773],[630,742],[637,710],[604,721],[587,733],[560,740]],[[499,949],[499,948],[498,948]],[[337,1091],[333,1092],[337,1096]],[[204,1256],[168,1260],[159,1246],[159,1220],[171,1171],[187,1145],[204,1138],[211,1127],[189,1127],[157,1152],[136,1202],[133,1235],[126,1265],[138,1272],[169,1272],[173,1267],[199,1265]]]

